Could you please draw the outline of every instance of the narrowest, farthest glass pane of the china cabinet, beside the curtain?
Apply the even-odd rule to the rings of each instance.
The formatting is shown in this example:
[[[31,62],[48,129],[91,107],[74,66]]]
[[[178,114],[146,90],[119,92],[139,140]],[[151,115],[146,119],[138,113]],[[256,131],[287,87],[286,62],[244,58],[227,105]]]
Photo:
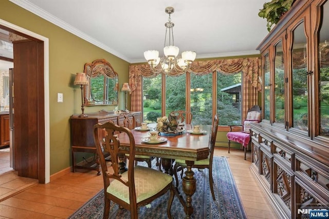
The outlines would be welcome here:
[[[270,112],[270,83],[269,83],[269,55],[264,56],[264,119],[269,120]]]

